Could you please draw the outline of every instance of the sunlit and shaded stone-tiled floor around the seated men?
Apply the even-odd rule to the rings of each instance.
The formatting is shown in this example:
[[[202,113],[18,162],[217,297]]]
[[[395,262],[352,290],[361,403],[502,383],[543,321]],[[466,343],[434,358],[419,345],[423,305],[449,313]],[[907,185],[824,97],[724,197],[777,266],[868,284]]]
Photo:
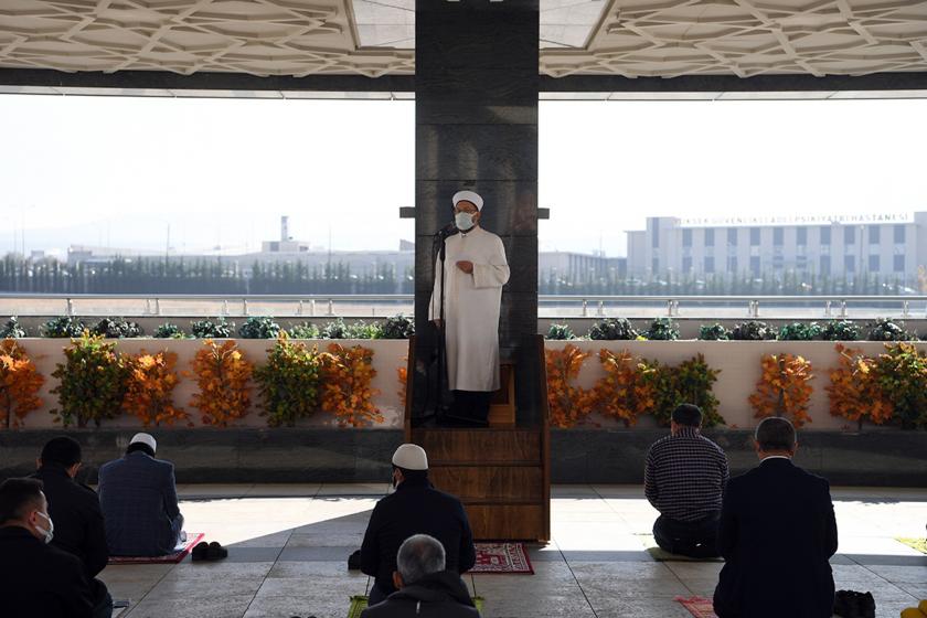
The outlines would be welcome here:
[[[230,546],[220,563],[110,566],[102,578],[130,599],[120,618],[343,618],[367,577],[347,571],[383,484],[181,486],[187,529]],[[895,536],[923,536],[927,489],[833,490],[838,588],[872,590],[878,617],[927,598],[927,556]],[[641,488],[560,486],[553,542],[533,546],[535,575],[466,576],[484,616],[679,617],[676,596],[711,596],[717,563],[659,563],[644,551],[656,512]]]

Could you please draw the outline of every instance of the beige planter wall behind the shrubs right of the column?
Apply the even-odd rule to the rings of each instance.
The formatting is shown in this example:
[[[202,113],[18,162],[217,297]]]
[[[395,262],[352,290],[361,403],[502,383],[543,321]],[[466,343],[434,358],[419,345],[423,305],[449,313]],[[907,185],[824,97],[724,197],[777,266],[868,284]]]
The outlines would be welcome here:
[[[833,341],[547,341],[550,350],[562,350],[572,343],[580,350],[592,352],[586,359],[575,385],[592,388],[597,380],[605,376],[605,370],[598,360],[601,349],[612,352],[627,350],[635,356],[654,359],[661,363],[678,364],[700,352],[712,369],[721,370],[714,384],[718,413],[732,429],[755,427],[754,409],[747,398],[756,391],[761,376],[760,358],[764,354],[788,352],[811,361],[814,377],[811,380],[811,401],[809,414],[811,423],[803,430],[849,430],[855,431],[856,424],[839,416],[831,416],[825,387],[830,385],[830,370],[838,365],[838,354]],[[877,341],[844,342],[850,348],[859,348],[867,355],[875,355],[885,350]],[[927,343],[915,343],[919,350],[927,350]],[[620,423],[605,419],[593,414],[589,420],[605,427],[617,427]],[[641,418],[642,423],[643,418]],[[874,426],[869,426],[873,428]],[[887,429],[892,430],[892,429]]]

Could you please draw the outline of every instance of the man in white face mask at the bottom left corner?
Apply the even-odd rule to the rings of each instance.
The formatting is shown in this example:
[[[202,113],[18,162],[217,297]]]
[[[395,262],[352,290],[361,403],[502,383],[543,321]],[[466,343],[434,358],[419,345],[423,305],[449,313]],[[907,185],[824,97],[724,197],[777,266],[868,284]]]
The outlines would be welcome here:
[[[0,484],[0,614],[3,618],[92,618],[84,565],[49,543],[54,524],[42,481]]]

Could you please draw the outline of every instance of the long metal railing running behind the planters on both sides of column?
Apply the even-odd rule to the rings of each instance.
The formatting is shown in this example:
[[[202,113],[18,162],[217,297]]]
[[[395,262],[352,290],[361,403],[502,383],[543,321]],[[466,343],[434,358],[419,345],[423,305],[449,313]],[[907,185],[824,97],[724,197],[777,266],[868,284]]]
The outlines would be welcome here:
[[[413,295],[0,294],[10,316],[275,316],[374,318],[413,311]],[[541,318],[927,318],[927,296],[594,296],[539,297]]]

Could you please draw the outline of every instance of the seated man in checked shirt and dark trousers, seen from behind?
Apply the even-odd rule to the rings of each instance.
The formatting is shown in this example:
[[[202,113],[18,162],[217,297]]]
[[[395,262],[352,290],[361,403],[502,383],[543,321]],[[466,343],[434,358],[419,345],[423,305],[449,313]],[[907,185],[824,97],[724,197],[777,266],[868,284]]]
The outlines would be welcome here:
[[[670,435],[647,454],[643,492],[660,516],[653,537],[663,550],[690,557],[718,555],[715,548],[727,457],[700,434],[702,411],[682,404],[673,411]]]

